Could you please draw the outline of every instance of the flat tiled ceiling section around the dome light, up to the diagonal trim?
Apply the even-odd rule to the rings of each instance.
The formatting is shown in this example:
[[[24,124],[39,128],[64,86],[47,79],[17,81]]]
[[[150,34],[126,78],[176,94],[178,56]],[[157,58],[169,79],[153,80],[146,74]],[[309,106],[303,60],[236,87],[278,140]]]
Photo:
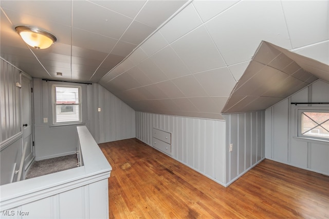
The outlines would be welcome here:
[[[98,82],[186,2],[1,1],[1,57],[33,77]],[[44,29],[57,43],[30,49],[19,25]]]

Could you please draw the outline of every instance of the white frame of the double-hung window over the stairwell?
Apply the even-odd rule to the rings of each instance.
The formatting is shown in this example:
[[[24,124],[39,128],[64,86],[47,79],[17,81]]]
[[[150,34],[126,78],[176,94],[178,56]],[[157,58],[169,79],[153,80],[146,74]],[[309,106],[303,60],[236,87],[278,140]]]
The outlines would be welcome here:
[[[78,97],[79,103],[75,104],[56,104],[56,87],[71,87],[78,88]],[[78,124],[82,123],[82,86],[77,85],[66,85],[66,84],[52,84],[51,86],[51,96],[52,96],[52,124],[53,125],[65,125],[65,124]],[[78,105],[79,106],[79,121],[65,121],[65,122],[56,122],[56,107],[61,105]],[[75,109],[74,109],[75,111]],[[61,114],[69,114],[69,112],[61,113]]]

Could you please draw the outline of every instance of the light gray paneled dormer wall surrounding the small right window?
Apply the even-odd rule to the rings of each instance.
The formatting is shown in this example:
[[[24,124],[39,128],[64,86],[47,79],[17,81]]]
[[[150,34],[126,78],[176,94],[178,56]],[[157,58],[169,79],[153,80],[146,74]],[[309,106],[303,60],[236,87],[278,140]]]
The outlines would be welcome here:
[[[296,138],[298,125],[294,113],[301,105],[291,104],[329,102],[328,94],[329,84],[318,80],[266,110],[267,159],[329,175],[329,143]],[[329,106],[323,104],[313,107],[329,110]]]

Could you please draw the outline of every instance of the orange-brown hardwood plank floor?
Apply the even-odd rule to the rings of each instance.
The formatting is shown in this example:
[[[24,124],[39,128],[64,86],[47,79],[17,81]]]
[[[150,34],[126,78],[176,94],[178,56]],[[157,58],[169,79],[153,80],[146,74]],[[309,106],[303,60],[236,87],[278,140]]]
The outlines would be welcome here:
[[[100,144],[109,218],[329,218],[329,177],[271,160],[225,188],[137,139]]]

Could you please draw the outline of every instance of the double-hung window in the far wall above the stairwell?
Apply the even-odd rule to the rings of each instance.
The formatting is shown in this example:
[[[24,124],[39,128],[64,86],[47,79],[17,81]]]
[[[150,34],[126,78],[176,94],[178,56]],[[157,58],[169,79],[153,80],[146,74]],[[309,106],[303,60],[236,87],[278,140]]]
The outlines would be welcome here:
[[[81,86],[53,85],[53,123],[81,122]]]

